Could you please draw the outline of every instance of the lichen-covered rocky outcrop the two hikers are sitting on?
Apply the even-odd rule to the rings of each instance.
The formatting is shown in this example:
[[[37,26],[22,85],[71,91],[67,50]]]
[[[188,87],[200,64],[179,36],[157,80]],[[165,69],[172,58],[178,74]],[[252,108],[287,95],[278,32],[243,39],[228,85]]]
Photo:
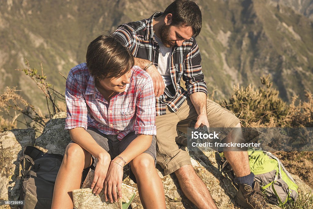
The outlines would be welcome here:
[[[69,133],[64,130],[65,113],[55,115],[46,125],[44,132],[34,142],[35,132],[32,129],[12,130],[0,134],[1,146],[1,198],[16,199],[20,184],[16,181],[19,174],[18,154],[23,146],[33,145],[49,153],[64,154],[64,150],[70,141]],[[221,209],[239,208],[235,202],[236,189],[230,179],[221,174],[220,166],[217,163],[219,157],[215,152],[203,152],[200,150],[189,151],[192,165],[198,176],[207,185],[213,199]],[[182,193],[174,174],[163,176],[162,168],[156,167],[159,176],[162,178],[167,208],[195,208],[195,206]],[[311,188],[299,177],[294,176],[296,183],[299,185],[300,193],[306,194]],[[3,179],[3,180],[2,180]],[[9,182],[10,181],[10,182]],[[125,184],[136,187],[136,184],[128,177],[127,171],[124,174]],[[15,186],[14,186],[15,185]],[[183,186],[183,185],[182,185]],[[6,196],[7,195],[7,196]],[[131,203],[132,208],[143,208],[139,196]],[[278,206],[271,206],[279,208]]]

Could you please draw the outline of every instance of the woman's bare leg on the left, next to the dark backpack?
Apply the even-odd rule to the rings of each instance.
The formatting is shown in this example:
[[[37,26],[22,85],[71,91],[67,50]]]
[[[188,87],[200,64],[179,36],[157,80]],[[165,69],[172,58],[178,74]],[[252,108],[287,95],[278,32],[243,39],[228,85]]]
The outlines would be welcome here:
[[[91,155],[80,145],[70,143],[65,150],[62,165],[54,185],[53,209],[73,209],[72,190],[79,189],[84,168],[91,165]]]

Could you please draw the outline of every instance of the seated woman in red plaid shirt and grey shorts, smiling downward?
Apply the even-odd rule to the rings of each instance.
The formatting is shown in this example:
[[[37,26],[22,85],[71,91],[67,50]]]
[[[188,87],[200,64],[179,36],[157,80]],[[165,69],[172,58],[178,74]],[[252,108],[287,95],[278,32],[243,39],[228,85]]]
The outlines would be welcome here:
[[[86,63],[70,70],[65,99],[65,129],[72,141],[55,181],[52,208],[73,208],[72,190],[80,188],[82,171],[92,164],[91,189],[95,195],[103,189],[105,201],[121,199],[123,167],[128,166],[142,205],[166,208],[155,169],[153,83],[134,66],[131,52],[111,36],[96,38],[87,48]]]

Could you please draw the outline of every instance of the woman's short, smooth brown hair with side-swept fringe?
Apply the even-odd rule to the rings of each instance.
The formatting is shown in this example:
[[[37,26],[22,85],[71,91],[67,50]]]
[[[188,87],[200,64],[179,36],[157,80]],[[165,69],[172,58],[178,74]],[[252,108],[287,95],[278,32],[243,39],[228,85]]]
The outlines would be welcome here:
[[[88,45],[86,64],[90,74],[102,80],[120,77],[135,62],[131,52],[113,36],[100,35]]]

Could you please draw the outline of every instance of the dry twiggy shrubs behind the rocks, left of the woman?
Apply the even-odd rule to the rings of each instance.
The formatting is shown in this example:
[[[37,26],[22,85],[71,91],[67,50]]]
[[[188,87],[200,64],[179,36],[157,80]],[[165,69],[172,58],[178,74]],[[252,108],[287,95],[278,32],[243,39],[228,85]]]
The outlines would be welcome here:
[[[64,102],[65,96],[54,90],[53,85],[46,82],[47,77],[44,74],[42,65],[41,74],[38,73],[37,69],[30,68],[28,61],[26,61],[26,65],[26,69],[17,70],[23,71],[25,75],[34,81],[34,86],[37,86],[42,91],[47,104],[47,110],[44,112],[49,112],[49,114],[43,114],[40,109],[35,108],[34,105],[23,99],[16,87],[6,87],[3,94],[0,95],[0,112],[4,112],[10,116],[12,121],[0,118],[1,132],[15,128],[16,122],[20,122],[26,127],[32,127],[37,132],[41,133],[44,130],[46,122],[51,119],[53,115],[60,111],[66,111]],[[14,116],[10,115],[12,110],[15,112]],[[16,114],[16,112],[19,114]],[[19,115],[21,115],[21,117],[19,117]]]

